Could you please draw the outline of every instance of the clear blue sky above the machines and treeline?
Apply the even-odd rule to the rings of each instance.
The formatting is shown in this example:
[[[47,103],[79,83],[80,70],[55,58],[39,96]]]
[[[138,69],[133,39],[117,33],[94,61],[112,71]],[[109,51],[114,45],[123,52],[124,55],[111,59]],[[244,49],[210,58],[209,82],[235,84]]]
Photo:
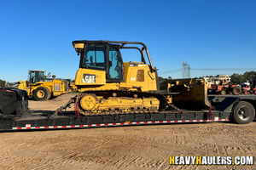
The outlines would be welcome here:
[[[0,79],[26,80],[28,70],[74,79],[74,40],[144,42],[169,72],[161,77],[182,78],[183,61],[191,77],[256,71],[255,8],[254,0],[0,0]],[[133,50],[123,58],[140,61]]]

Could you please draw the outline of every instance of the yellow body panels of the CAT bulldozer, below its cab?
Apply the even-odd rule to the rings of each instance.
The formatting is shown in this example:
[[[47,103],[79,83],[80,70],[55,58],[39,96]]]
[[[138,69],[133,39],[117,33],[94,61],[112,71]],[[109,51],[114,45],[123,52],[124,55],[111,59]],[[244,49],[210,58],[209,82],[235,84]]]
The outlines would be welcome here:
[[[94,75],[94,76],[84,76]],[[156,87],[155,73],[149,71],[148,65],[137,62],[124,62],[124,82],[107,82],[106,71],[79,69],[75,85],[85,90],[129,89],[135,91],[154,91]]]

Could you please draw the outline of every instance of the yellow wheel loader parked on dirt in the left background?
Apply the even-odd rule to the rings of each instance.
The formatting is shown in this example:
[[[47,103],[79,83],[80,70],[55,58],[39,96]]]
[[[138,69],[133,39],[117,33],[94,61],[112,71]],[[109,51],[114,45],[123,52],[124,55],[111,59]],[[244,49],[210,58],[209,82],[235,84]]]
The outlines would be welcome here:
[[[34,97],[38,101],[48,100],[51,97],[59,96],[68,93],[68,83],[64,79],[55,79],[55,76],[50,78],[44,76],[45,71],[28,71],[28,79],[7,83],[6,87],[15,87],[26,90],[29,97]]]

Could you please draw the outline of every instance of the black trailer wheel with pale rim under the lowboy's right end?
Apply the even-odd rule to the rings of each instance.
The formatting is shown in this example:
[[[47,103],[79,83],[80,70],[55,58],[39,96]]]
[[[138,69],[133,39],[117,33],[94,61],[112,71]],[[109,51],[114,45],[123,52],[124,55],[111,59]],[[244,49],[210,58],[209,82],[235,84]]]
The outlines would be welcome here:
[[[239,102],[232,115],[233,121],[239,124],[247,124],[252,122],[255,117],[255,110],[252,104],[241,101]]]

